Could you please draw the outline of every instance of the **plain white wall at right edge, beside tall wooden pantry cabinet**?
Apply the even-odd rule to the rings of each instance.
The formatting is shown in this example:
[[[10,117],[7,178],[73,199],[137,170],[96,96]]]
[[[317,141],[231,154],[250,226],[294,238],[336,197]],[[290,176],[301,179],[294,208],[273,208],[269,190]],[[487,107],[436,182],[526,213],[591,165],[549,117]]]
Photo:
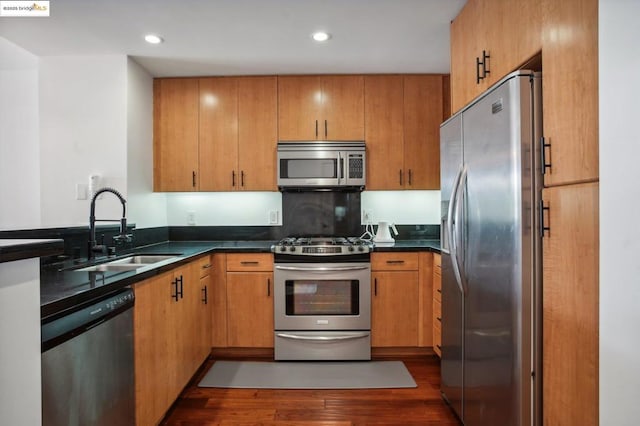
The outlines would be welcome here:
[[[600,424],[640,418],[640,2],[600,0]]]

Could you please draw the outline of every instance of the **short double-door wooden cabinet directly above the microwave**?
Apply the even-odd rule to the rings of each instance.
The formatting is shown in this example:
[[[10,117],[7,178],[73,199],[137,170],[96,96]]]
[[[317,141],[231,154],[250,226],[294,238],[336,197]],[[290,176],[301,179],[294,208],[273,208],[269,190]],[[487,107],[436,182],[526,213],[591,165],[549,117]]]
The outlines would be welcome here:
[[[278,139],[363,140],[364,78],[278,77]]]

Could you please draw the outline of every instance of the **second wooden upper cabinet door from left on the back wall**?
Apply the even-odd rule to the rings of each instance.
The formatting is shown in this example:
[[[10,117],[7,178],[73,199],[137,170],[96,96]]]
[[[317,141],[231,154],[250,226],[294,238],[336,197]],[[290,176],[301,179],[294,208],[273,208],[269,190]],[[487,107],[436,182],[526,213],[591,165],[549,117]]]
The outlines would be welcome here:
[[[200,79],[200,191],[229,191],[238,176],[238,80]]]

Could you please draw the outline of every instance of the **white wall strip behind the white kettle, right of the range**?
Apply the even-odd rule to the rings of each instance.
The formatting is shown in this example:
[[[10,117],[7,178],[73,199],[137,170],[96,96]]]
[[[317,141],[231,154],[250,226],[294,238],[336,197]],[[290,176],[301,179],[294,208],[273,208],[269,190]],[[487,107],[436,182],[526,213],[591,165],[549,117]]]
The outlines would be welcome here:
[[[362,211],[373,223],[439,225],[440,191],[364,191]]]

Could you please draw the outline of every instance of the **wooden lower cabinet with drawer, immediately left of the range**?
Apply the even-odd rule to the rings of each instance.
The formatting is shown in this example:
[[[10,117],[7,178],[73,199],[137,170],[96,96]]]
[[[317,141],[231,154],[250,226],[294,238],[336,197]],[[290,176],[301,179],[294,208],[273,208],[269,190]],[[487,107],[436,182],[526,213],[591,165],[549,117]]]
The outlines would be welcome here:
[[[273,347],[273,256],[227,254],[227,345]]]

